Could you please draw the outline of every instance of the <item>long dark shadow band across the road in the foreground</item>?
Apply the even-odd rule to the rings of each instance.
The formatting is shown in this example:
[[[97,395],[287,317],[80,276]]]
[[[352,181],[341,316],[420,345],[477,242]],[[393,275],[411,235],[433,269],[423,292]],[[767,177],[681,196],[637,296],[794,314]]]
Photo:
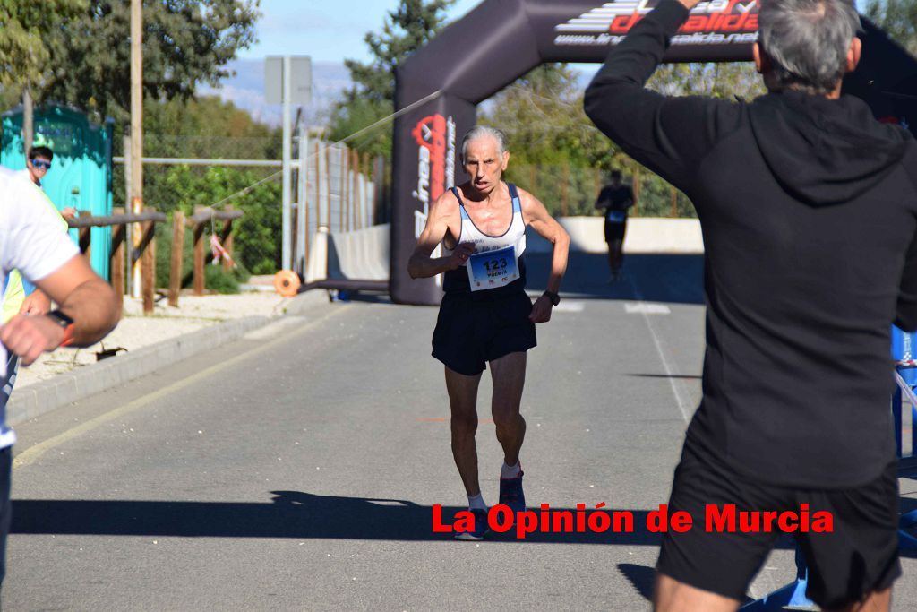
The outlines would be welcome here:
[[[14,534],[161,536],[176,538],[296,538],[328,540],[450,540],[433,531],[433,508],[401,499],[373,499],[273,491],[266,503],[131,500],[13,500]],[[443,507],[451,524],[463,507]],[[552,508],[569,510],[574,508]],[[614,512],[611,508],[605,509]],[[621,510],[618,510],[619,512]],[[587,521],[595,510],[583,514]],[[629,510],[633,531],[530,533],[525,541],[553,544],[658,546],[646,529],[646,510]],[[588,522],[586,523],[588,525]],[[697,526],[695,529],[703,529]],[[517,542],[514,530],[492,533],[492,542]],[[778,548],[790,549],[781,538]],[[904,551],[902,551],[904,552]],[[629,576],[633,577],[633,576]]]

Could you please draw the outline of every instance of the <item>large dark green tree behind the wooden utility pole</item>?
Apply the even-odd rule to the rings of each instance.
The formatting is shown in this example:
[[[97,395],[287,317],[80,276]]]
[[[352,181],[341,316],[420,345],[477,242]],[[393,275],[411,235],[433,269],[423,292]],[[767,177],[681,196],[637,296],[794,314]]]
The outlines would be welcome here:
[[[89,0],[84,4],[88,6],[78,17],[50,16],[54,35],[47,40],[52,61],[44,73],[40,97],[100,115],[126,117],[130,108],[130,3]],[[198,83],[216,84],[228,76],[226,63],[255,40],[259,16],[258,0],[144,2],[145,96],[187,99]]]

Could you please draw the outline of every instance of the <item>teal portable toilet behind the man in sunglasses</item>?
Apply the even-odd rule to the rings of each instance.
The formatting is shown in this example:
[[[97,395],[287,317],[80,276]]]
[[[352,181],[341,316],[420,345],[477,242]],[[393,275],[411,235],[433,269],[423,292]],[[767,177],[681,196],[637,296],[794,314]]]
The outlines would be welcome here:
[[[3,114],[3,142],[0,164],[25,170],[26,150],[22,142],[22,106]],[[112,214],[112,137],[115,122],[93,123],[85,113],[69,106],[42,105],[35,108],[33,146],[54,151],[51,169],[41,185],[58,210],[72,207],[94,216]],[[72,230],[73,239],[78,239]],[[92,228],[91,262],[104,279],[109,278],[111,228]]]

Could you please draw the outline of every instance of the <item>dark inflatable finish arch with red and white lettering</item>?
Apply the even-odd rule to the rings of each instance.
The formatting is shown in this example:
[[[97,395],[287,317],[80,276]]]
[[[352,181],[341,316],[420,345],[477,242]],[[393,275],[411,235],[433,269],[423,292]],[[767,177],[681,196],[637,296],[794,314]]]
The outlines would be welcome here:
[[[431,202],[456,177],[458,145],[475,108],[537,65],[602,62],[659,0],[485,0],[417,50],[396,76],[392,141],[392,299],[436,305],[438,279],[412,280],[407,261]],[[865,24],[863,61],[845,82],[883,120],[917,128],[917,61]],[[666,61],[749,61],[757,0],[702,2],[672,39]],[[406,109],[406,110],[405,110]]]

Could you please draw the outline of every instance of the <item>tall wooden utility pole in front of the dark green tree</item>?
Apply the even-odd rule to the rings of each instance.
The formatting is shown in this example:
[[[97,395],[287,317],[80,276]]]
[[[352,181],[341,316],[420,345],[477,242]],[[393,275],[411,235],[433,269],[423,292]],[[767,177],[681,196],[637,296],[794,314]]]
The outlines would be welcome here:
[[[130,179],[129,210],[143,211],[143,0],[130,0]],[[134,247],[139,246],[139,224],[133,231]],[[131,249],[132,250],[132,249]],[[140,265],[128,255],[131,264],[133,296],[140,296]]]

